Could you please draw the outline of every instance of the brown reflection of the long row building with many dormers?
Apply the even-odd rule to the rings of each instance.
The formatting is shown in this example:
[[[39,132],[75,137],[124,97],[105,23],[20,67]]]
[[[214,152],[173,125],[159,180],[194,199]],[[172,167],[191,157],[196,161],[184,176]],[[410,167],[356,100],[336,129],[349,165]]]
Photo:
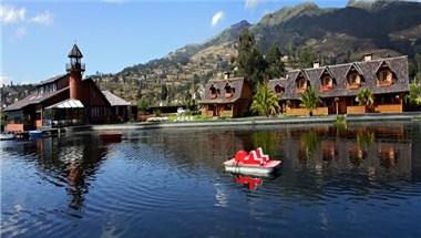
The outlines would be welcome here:
[[[295,134],[290,133],[283,147],[287,151],[286,159],[291,159],[296,167],[353,167],[370,175],[384,169],[389,174],[411,173],[411,141],[403,125],[351,127],[339,137],[332,130]]]

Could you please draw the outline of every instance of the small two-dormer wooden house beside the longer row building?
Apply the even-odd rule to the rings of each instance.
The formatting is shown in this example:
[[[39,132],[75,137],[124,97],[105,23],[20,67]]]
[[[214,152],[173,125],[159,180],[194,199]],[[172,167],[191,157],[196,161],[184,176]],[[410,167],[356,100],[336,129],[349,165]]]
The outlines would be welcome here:
[[[250,85],[244,77],[209,80],[205,99],[199,102],[202,115],[238,117],[248,113],[253,100]]]

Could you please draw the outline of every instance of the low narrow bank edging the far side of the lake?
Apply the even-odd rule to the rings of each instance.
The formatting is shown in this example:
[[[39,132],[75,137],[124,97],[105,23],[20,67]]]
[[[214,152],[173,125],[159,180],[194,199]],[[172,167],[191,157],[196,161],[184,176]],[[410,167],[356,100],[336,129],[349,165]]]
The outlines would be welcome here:
[[[240,125],[314,125],[335,124],[337,116],[306,116],[306,117],[243,117],[232,120],[214,121],[187,121],[187,122],[158,122],[158,123],[126,123],[126,124],[102,124],[80,125],[64,127],[65,133],[84,131],[113,131],[113,130],[153,130],[153,128],[194,128],[213,126],[240,126]],[[346,116],[347,124],[363,122],[421,122],[421,113],[393,114],[393,115],[352,115]]]

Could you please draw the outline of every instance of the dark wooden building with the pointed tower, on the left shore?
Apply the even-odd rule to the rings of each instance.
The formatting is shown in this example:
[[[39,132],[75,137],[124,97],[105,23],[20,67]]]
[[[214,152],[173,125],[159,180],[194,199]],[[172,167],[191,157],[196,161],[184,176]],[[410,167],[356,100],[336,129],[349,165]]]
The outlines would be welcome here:
[[[42,81],[37,90],[27,97],[4,108],[6,132],[23,132],[45,126],[66,126],[109,122],[127,111],[116,110],[115,102],[126,105],[127,102],[104,93],[92,79],[82,79],[85,70],[83,58],[78,45],[69,53],[70,62],[66,73]],[[112,99],[110,100],[107,99]],[[122,117],[126,117],[123,115]]]

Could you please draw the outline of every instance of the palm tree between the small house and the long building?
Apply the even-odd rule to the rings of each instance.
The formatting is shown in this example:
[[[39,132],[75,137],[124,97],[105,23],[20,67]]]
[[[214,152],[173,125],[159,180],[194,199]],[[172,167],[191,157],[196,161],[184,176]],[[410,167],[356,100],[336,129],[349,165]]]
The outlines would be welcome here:
[[[257,85],[257,93],[253,96],[250,110],[253,113],[265,116],[276,115],[279,112],[278,97],[266,83]]]

